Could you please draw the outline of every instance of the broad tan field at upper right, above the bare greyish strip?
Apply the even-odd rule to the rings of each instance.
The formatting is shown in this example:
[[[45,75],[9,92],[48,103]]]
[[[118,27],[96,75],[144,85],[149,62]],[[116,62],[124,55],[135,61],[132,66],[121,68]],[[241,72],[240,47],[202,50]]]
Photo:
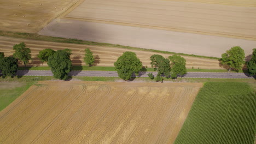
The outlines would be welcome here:
[[[256,40],[255,7],[159,0],[86,0],[66,18]]]

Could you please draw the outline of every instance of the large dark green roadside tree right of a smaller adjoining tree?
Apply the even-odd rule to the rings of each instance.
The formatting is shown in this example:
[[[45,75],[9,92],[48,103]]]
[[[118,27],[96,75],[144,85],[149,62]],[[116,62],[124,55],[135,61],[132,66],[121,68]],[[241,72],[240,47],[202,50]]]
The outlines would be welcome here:
[[[48,58],[48,65],[56,79],[66,80],[71,70],[71,50],[57,50],[54,55]]]

